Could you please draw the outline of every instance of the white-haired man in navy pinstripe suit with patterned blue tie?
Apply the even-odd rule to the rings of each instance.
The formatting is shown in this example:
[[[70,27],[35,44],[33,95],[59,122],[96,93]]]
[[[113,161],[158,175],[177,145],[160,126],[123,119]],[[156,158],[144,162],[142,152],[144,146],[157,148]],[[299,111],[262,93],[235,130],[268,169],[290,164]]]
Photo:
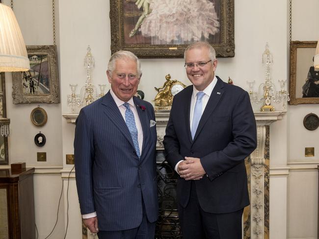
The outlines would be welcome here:
[[[135,93],[137,57],[115,52],[110,91],[83,107],[74,151],[80,211],[99,239],[154,239],[158,218],[156,122],[153,106]]]

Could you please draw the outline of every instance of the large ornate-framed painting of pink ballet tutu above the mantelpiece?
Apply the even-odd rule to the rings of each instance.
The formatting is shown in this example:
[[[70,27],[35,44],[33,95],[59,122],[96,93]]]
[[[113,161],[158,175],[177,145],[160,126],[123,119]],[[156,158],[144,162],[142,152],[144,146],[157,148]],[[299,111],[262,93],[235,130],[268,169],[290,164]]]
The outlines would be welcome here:
[[[235,56],[234,0],[110,0],[111,51],[182,58],[207,41],[217,57]]]

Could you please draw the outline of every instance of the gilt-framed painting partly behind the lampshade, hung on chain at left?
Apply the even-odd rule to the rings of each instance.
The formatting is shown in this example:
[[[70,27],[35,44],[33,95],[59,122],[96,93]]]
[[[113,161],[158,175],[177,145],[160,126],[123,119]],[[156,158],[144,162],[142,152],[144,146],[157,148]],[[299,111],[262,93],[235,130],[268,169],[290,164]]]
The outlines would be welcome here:
[[[59,103],[56,46],[27,46],[30,71],[12,72],[14,104]]]

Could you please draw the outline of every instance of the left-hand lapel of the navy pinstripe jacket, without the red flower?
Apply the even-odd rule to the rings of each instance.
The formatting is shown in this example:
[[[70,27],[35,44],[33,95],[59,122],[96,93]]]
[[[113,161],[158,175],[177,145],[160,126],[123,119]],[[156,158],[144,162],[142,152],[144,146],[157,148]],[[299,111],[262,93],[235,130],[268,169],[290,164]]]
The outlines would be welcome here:
[[[124,137],[129,141],[129,143],[133,146],[133,140],[131,137],[131,133],[121,115],[120,110],[118,109],[117,105],[113,97],[111,96],[110,92],[108,92],[105,96],[103,96],[101,104],[105,105],[104,113],[106,116],[115,124],[115,126],[121,131]]]

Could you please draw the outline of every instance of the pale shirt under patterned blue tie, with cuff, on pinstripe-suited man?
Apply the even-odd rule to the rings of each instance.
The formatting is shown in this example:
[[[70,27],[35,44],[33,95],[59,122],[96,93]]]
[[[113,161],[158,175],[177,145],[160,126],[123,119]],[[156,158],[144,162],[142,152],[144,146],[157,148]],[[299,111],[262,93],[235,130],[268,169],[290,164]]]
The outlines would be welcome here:
[[[123,105],[125,102],[120,100],[112,91],[112,89],[110,89],[110,93],[111,96],[113,97],[115,104],[117,105],[117,107],[119,108],[121,115],[125,120],[125,111],[126,111],[126,107]],[[139,120],[138,114],[137,114],[137,110],[133,101],[133,97],[128,101],[129,105],[130,105],[130,109],[133,112],[134,115],[134,119],[135,119],[135,124],[136,124],[136,128],[137,128],[137,140],[138,140],[138,146],[139,146],[139,151],[142,154],[142,145],[143,145],[143,130],[142,130],[142,124],[141,121]],[[94,213],[90,213],[90,214],[84,214],[82,215],[82,218],[86,219],[86,218],[91,218],[91,217],[95,217],[96,216],[96,212]]]

